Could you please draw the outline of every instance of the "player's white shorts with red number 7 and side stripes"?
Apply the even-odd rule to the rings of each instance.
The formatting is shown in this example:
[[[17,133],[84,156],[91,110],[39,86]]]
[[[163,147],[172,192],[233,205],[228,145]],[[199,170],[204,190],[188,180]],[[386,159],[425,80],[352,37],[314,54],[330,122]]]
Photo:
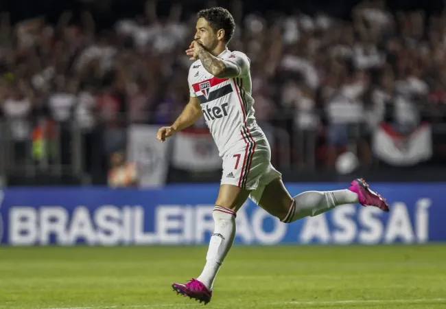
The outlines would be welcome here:
[[[266,185],[281,176],[271,164],[271,150],[266,139],[256,141],[255,146],[231,148],[223,157],[221,184],[252,190],[249,198],[257,205]]]

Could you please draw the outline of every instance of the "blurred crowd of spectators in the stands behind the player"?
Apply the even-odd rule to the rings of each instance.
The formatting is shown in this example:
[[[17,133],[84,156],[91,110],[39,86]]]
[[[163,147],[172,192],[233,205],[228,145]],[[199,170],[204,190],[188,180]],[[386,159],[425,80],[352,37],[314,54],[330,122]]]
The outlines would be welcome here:
[[[445,122],[443,12],[391,14],[384,1],[364,1],[340,20],[242,14],[242,6],[228,8],[237,22],[229,48],[251,60],[256,116],[268,134],[281,128],[293,139],[298,132],[303,144],[323,144],[320,162],[331,166],[352,139],[360,159],[371,162],[368,137],[382,121],[401,133],[422,121]],[[184,51],[195,23],[181,4],[161,18],[153,0],[101,31],[89,12],[79,22],[64,12],[56,25],[42,18],[11,25],[8,13],[0,14],[0,111],[16,156],[26,157],[30,137],[57,127],[69,160],[74,126],[87,168],[95,168],[124,150],[129,124],[171,123],[188,100]]]

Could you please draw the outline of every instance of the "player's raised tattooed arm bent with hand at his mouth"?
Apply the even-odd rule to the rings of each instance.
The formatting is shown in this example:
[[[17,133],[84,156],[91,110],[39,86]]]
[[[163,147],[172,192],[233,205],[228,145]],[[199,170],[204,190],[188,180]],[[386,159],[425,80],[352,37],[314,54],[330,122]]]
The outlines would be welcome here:
[[[246,75],[249,71],[248,57],[242,53],[233,54],[230,59],[220,59],[200,46],[197,54],[204,69],[218,78],[235,78]]]

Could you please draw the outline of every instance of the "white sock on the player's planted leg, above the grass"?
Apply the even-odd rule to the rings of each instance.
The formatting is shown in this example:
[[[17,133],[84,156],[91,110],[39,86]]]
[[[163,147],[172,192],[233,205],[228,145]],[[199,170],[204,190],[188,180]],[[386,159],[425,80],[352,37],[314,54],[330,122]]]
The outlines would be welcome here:
[[[206,256],[201,275],[197,278],[209,290],[213,288],[213,282],[222,266],[222,262],[233,245],[235,237],[235,212],[220,206],[213,209],[213,220],[215,227],[209,242],[209,249]]]

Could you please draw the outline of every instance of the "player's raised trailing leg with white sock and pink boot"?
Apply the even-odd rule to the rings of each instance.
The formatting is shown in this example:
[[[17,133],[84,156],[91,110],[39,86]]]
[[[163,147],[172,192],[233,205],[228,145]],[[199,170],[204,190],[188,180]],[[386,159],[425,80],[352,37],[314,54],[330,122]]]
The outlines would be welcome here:
[[[363,179],[355,179],[345,190],[307,191],[294,197],[286,190],[280,178],[270,181],[263,191],[253,192],[257,203],[282,222],[290,223],[306,216],[317,216],[339,205],[360,203],[388,211],[388,204],[369,189]]]

